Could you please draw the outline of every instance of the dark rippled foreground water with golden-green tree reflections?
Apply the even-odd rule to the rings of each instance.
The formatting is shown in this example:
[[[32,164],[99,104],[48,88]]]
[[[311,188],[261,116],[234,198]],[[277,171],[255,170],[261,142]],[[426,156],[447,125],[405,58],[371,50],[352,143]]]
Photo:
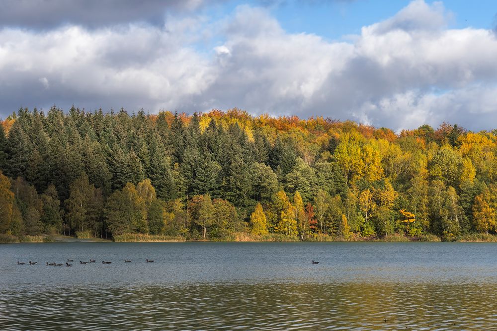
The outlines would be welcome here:
[[[478,284],[234,283],[6,291],[0,329],[491,330],[496,290]]]

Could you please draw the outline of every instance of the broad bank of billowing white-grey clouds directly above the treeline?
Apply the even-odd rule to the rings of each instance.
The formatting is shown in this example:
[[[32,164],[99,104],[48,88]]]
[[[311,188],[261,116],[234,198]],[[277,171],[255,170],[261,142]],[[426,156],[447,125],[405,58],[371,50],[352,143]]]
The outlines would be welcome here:
[[[395,130],[442,121],[493,129],[496,35],[449,29],[450,19],[442,3],[414,0],[347,42],[287,33],[268,9],[251,6],[217,22],[192,11],[165,25],[8,25],[0,30],[0,114],[53,104],[151,113],[239,107]],[[209,39],[217,44],[205,49]]]

